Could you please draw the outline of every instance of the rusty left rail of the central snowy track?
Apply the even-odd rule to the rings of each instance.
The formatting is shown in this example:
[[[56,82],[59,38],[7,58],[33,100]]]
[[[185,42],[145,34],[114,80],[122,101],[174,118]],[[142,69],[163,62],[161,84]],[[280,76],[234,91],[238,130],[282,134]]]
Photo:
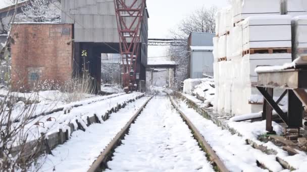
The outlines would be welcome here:
[[[129,122],[125,125],[125,127],[113,138],[113,140],[109,143],[109,145],[105,148],[103,152],[97,157],[97,159],[93,162],[87,172],[100,172],[106,169],[107,162],[112,157],[114,149],[120,145],[122,138],[128,133],[131,124],[136,120],[136,118],[141,114],[144,107],[147,103],[153,98],[150,97],[141,108],[133,115],[133,117],[129,120]]]

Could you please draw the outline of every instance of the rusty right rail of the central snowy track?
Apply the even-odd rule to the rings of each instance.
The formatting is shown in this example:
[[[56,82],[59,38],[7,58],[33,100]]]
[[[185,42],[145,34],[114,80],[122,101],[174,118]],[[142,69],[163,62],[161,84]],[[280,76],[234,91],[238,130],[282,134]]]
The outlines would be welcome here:
[[[175,109],[179,112],[183,120],[186,122],[186,124],[189,126],[189,128],[192,130],[193,135],[195,139],[200,144],[201,148],[209,154],[209,158],[212,162],[215,163],[215,165],[218,167],[218,170],[220,172],[229,172],[229,170],[226,168],[223,161],[219,158],[219,156],[215,153],[215,151],[212,149],[212,147],[207,143],[206,139],[200,134],[198,129],[194,126],[194,124],[185,116],[185,114],[178,108],[178,106],[175,104],[174,100],[171,98],[170,95],[168,95],[172,105],[175,107]]]

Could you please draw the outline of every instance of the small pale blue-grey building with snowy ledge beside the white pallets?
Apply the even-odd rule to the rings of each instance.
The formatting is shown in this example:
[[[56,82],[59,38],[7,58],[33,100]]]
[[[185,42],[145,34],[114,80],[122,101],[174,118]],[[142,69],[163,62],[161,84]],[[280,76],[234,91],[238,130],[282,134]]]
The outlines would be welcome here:
[[[215,34],[192,32],[188,38],[188,77],[213,77],[213,42]]]

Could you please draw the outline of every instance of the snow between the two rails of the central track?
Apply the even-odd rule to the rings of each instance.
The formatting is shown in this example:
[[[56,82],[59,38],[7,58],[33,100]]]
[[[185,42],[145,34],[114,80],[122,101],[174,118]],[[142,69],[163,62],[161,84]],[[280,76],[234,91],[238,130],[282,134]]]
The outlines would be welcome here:
[[[152,99],[106,171],[214,171],[166,96]]]

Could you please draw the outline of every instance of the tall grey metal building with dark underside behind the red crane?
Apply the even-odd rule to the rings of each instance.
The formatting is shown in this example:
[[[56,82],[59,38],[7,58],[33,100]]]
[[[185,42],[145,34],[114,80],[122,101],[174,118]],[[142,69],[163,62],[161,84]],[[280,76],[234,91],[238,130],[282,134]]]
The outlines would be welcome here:
[[[132,0],[129,0],[131,3]],[[126,4],[131,4],[126,1]],[[138,2],[139,3],[139,2]],[[146,80],[148,40],[148,12],[145,8],[141,24],[141,41],[137,59],[137,80]],[[77,1],[62,0],[63,24],[74,24],[74,73],[82,68],[81,51],[87,51],[86,62],[91,76],[98,82],[101,78],[101,54],[120,54],[119,33],[113,0]],[[133,22],[131,18],[126,18]],[[129,21],[131,20],[131,21]],[[126,21],[126,22],[127,22]]]

